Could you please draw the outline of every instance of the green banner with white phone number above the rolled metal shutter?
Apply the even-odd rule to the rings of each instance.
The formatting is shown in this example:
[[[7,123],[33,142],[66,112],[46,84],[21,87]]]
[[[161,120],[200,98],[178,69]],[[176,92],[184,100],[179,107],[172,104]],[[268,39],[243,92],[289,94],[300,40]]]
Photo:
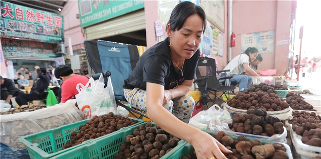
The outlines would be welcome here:
[[[81,27],[144,8],[144,0],[78,0]]]

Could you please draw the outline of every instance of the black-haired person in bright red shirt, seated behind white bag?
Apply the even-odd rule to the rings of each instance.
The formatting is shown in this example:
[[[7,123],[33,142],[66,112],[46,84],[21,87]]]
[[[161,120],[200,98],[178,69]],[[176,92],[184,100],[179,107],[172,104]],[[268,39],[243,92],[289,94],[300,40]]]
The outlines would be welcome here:
[[[57,79],[61,79],[61,102],[65,103],[69,99],[74,99],[74,96],[78,94],[76,86],[78,83],[86,85],[88,78],[86,76],[76,75],[68,65],[60,65],[55,68],[54,76]]]

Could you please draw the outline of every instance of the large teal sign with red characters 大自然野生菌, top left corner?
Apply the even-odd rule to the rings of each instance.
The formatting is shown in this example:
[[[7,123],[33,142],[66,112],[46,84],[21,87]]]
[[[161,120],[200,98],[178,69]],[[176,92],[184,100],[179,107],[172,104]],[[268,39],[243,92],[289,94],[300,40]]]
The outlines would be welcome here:
[[[63,16],[8,3],[1,4],[1,37],[47,43],[64,39]]]

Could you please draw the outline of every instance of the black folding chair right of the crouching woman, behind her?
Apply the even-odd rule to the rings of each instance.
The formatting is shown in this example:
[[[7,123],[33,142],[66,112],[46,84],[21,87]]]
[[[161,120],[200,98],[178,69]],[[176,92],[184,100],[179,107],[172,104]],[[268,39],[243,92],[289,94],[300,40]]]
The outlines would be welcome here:
[[[222,77],[217,79],[216,77],[216,62],[215,59],[208,57],[200,57],[196,69],[196,80],[198,90],[202,92],[202,95],[207,95],[209,99],[215,103],[216,100],[222,100],[221,97],[225,95],[229,98],[230,91],[235,95],[235,87],[224,86],[219,83],[221,79],[231,79],[231,77]],[[214,93],[213,93],[214,92]],[[217,95],[217,92],[222,92],[222,95]],[[210,97],[210,94],[214,95],[214,99]]]

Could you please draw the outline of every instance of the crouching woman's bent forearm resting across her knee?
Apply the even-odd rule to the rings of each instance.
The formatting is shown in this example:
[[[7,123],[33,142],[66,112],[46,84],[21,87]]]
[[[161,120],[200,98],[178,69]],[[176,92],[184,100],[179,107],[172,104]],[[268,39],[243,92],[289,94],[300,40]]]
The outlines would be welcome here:
[[[178,85],[174,89],[165,90],[163,105],[165,105],[171,99],[187,95],[187,93],[191,90],[191,87],[193,85],[193,81],[194,81],[194,79],[184,80],[182,84]]]

